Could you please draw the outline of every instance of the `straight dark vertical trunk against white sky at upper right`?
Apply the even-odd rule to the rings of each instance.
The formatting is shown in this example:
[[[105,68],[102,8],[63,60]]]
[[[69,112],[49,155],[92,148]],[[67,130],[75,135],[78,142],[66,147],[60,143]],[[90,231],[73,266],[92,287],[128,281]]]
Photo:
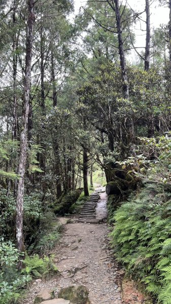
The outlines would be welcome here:
[[[149,0],[146,0],[146,49],[145,49],[144,60],[145,60],[144,69],[145,69],[145,71],[148,71],[150,68],[150,3],[149,3]]]

